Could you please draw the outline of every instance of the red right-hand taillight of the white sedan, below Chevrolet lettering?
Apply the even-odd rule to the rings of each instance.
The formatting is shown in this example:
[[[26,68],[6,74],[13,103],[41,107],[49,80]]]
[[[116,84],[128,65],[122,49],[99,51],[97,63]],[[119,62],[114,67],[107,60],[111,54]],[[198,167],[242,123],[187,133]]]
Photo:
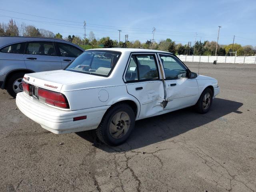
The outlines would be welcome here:
[[[66,109],[69,108],[66,97],[61,93],[38,88],[38,99],[49,105]]]

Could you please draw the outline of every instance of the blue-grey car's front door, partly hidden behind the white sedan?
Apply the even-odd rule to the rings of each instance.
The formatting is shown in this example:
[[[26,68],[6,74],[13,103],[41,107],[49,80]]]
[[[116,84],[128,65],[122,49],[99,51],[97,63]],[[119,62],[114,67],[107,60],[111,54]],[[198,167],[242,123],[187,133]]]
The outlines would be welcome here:
[[[77,56],[79,56],[83,52],[77,47],[67,43],[56,42],[56,45],[56,47],[58,48],[62,68],[66,68],[66,66],[70,62],[72,62]]]

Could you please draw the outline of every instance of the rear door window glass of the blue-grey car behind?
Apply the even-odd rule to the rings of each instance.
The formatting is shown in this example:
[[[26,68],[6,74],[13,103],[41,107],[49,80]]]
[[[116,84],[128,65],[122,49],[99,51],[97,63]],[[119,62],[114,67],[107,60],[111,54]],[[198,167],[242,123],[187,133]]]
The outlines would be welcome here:
[[[26,54],[56,56],[52,42],[29,42]]]

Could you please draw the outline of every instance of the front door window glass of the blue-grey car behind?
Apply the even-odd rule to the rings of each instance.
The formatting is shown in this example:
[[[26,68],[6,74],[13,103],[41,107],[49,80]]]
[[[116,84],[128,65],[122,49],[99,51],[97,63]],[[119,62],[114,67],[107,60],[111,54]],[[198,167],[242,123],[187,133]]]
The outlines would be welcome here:
[[[62,57],[77,57],[82,53],[82,50],[76,48],[75,46],[66,43],[57,43],[60,49],[60,56]]]

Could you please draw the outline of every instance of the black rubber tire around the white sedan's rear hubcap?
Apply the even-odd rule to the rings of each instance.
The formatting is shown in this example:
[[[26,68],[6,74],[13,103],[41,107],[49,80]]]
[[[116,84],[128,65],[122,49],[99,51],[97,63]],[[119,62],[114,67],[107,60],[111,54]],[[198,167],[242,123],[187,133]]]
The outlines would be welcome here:
[[[126,132],[126,134],[124,134],[121,138],[114,138],[110,133],[110,124],[111,123],[114,124],[112,121],[112,118],[114,118],[114,116],[120,112],[124,112],[126,114],[126,117],[127,115],[129,116],[130,126],[127,129],[128,131]],[[96,135],[98,136],[101,142],[108,145],[117,146],[124,143],[127,140],[127,138],[130,136],[132,132],[132,129],[134,128],[134,125],[135,125],[135,114],[132,108],[128,104],[124,104],[124,103],[116,104],[112,106],[102,118],[100,125],[96,129]],[[117,126],[117,124],[115,126]]]

